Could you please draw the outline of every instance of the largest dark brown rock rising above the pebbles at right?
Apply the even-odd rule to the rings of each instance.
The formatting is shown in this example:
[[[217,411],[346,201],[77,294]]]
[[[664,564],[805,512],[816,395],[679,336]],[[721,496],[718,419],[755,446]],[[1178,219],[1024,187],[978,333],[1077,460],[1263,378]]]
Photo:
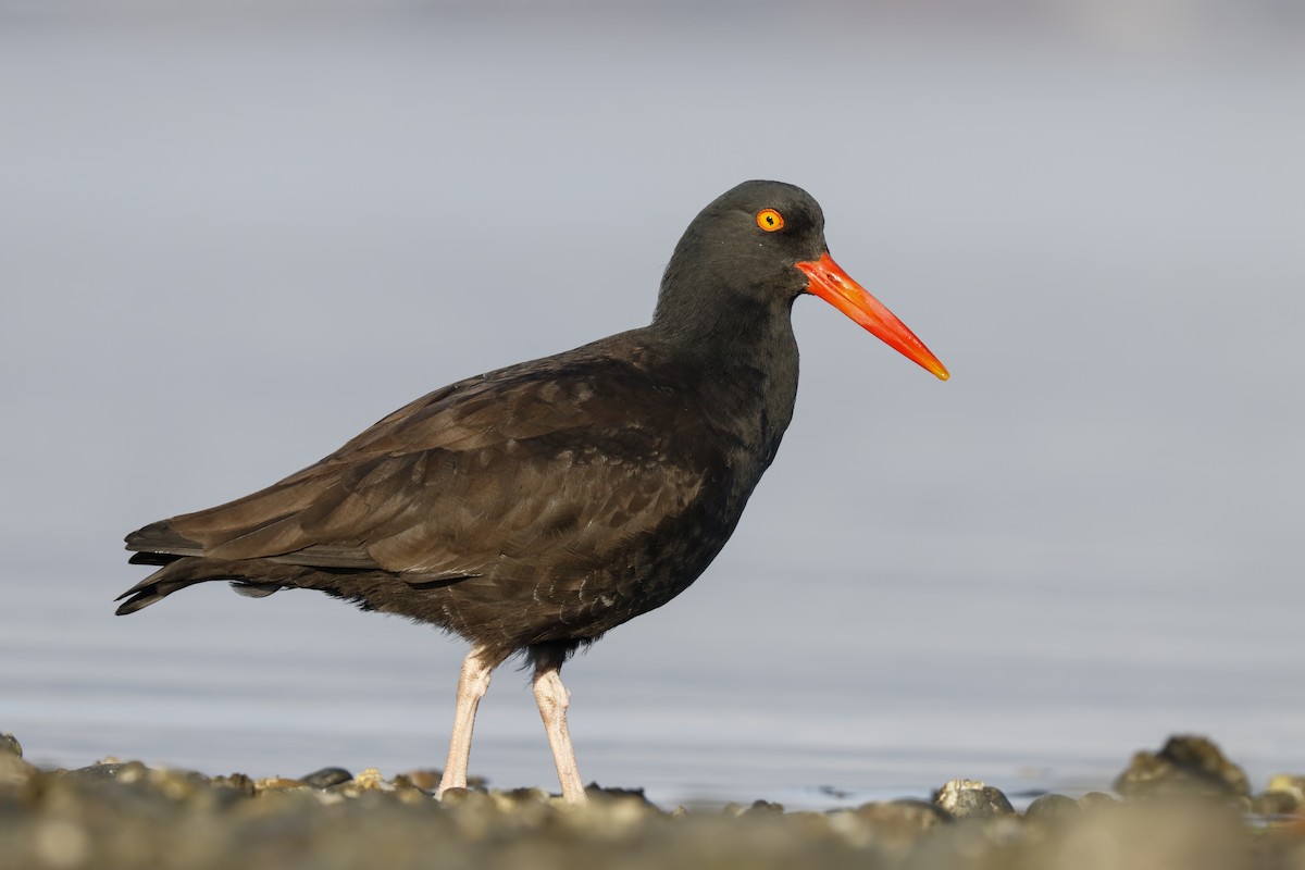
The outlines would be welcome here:
[[[1207,737],[1171,737],[1159,753],[1141,751],[1114,780],[1125,797],[1248,797],[1246,772],[1224,758]]]

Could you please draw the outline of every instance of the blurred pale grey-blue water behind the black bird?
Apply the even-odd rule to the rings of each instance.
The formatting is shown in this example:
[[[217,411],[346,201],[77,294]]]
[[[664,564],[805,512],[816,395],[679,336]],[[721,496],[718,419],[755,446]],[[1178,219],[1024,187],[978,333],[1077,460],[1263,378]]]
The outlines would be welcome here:
[[[646,322],[771,177],[953,380],[799,301],[733,541],[565,670],[586,780],[1100,788],[1171,732],[1305,770],[1302,9],[0,0],[0,729],[441,764],[461,643],[221,584],[115,618],[121,536]],[[476,737],[555,784],[525,674]]]

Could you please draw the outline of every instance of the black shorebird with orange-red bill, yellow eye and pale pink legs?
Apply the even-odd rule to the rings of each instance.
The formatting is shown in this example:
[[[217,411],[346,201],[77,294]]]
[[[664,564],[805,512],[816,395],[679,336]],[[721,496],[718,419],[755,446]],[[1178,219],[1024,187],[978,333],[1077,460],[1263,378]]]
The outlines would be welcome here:
[[[441,797],[467,787],[491,673],[522,656],[561,796],[582,803],[562,664],[683,592],[735,531],[792,420],[804,295],[950,377],[833,260],[809,193],[745,181],[689,223],[647,326],[435,390],[265,489],[132,532],[129,561],[157,570],[117,614],[227,580],[461,637]]]

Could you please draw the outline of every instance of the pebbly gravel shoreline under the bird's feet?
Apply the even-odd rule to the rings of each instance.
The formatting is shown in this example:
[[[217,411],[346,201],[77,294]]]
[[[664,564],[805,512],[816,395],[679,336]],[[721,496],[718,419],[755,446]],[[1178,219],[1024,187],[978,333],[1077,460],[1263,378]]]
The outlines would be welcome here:
[[[435,772],[324,768],[300,779],[207,776],[104,762],[40,770],[0,736],[0,869],[43,867],[1073,867],[1305,870],[1305,776],[1253,794],[1206,738],[1139,751],[1116,794],[1044,794],[1019,814],[953,780],[932,801],[825,813],[776,803],[656,807],[589,789],[432,794]]]

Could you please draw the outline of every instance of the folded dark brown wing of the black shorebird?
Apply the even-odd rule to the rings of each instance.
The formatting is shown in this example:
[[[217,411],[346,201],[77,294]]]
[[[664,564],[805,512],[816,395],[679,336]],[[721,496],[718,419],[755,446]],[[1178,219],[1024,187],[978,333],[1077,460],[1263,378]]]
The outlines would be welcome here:
[[[692,437],[696,413],[676,390],[586,350],[431,393],[317,464],[147,526],[128,548],[154,563],[201,556],[424,578],[602,563],[698,497],[711,447]]]

